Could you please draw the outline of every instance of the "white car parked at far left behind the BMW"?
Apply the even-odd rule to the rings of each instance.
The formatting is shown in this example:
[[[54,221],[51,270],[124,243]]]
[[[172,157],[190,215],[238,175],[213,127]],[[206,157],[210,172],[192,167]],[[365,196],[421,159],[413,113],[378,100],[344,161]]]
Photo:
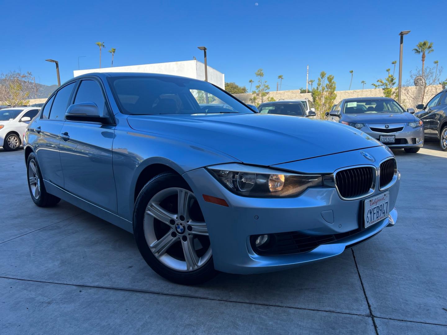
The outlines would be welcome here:
[[[0,147],[5,151],[17,150],[23,143],[26,126],[40,111],[40,107],[0,109]]]

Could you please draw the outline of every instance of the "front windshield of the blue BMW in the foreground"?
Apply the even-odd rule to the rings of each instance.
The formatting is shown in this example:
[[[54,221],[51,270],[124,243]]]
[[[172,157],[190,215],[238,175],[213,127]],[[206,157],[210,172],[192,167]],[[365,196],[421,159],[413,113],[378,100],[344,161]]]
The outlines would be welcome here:
[[[205,81],[162,76],[111,77],[109,80],[124,114],[253,113]]]

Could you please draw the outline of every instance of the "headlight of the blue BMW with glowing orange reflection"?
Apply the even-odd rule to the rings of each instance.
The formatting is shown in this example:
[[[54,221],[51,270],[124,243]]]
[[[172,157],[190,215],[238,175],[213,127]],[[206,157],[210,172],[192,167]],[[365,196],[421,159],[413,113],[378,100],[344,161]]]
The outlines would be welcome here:
[[[292,197],[323,184],[321,175],[300,175],[236,163],[207,169],[223,186],[246,197]]]

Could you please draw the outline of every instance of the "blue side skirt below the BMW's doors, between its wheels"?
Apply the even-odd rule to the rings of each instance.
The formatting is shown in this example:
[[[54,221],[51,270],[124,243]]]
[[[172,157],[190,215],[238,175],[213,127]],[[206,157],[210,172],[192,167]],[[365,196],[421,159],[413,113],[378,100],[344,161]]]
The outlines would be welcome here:
[[[50,194],[55,195],[80,209],[84,209],[86,212],[97,216],[107,222],[114,224],[124,230],[127,230],[129,233],[133,234],[133,225],[132,222],[127,221],[126,219],[121,218],[120,216],[109,212],[108,210],[102,209],[97,205],[93,205],[89,201],[81,199],[80,197],[76,197],[72,193],[69,193],[59,186],[51,183],[48,180],[43,180],[45,184],[46,191]]]

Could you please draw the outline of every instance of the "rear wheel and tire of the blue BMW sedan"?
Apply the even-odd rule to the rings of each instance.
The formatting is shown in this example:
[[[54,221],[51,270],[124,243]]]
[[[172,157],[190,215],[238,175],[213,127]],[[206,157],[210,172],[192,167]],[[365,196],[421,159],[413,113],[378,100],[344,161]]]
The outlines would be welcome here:
[[[42,173],[36,156],[31,153],[26,161],[26,172],[28,176],[28,188],[30,189],[31,199],[39,207],[51,207],[56,205],[60,198],[46,192],[43,184]]]

